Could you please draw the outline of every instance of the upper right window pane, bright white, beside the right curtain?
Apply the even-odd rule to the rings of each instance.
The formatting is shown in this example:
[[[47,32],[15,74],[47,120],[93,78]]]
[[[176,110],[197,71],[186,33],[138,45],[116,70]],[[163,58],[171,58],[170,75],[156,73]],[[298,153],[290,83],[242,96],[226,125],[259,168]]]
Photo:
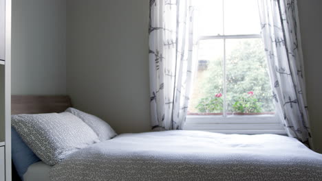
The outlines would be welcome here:
[[[224,0],[224,33],[260,34],[257,0]]]

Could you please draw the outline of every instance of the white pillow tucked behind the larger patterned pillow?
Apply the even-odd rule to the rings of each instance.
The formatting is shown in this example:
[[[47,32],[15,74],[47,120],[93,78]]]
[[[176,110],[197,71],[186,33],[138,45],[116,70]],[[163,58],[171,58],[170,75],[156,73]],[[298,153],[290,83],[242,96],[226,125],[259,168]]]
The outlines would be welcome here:
[[[75,108],[67,108],[65,111],[74,114],[76,117],[79,117],[87,123],[87,125],[96,132],[100,141],[109,140],[117,135],[113,128],[99,117],[87,114],[81,110],[76,110]]]

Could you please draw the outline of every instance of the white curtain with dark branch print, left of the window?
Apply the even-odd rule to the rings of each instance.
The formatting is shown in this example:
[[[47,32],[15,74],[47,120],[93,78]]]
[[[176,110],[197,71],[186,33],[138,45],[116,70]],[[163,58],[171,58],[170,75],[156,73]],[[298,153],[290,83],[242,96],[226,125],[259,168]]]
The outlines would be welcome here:
[[[150,0],[149,16],[151,125],[182,129],[193,67],[191,1]]]

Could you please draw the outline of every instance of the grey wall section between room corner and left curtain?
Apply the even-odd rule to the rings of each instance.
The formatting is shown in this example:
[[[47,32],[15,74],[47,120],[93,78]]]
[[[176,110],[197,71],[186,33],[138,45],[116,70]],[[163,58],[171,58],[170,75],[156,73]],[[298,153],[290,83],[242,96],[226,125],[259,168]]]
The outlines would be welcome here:
[[[116,132],[149,131],[149,0],[67,0],[67,93]]]

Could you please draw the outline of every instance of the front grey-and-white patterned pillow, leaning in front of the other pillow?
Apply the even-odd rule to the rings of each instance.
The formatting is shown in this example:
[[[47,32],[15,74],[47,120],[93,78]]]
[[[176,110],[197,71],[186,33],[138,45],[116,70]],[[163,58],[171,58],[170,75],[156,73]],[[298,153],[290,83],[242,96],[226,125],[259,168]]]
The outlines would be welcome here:
[[[95,132],[69,112],[12,115],[12,125],[34,154],[56,165],[78,149],[100,142]]]

